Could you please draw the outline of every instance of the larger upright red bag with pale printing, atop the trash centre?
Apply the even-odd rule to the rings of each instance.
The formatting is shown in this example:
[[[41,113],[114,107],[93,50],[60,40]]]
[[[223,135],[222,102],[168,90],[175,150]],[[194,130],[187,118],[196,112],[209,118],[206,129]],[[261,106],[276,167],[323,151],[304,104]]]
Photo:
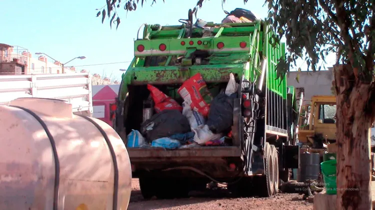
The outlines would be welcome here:
[[[190,105],[192,110],[199,112],[203,117],[208,115],[212,95],[200,73],[183,82],[177,92]]]

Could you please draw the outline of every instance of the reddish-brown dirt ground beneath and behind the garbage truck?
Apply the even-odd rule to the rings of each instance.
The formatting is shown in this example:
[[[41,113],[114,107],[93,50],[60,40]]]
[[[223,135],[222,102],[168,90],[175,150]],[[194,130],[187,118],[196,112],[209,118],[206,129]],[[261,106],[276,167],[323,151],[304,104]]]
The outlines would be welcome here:
[[[277,194],[271,198],[230,198],[224,191],[192,192],[188,199],[143,200],[138,179],[132,180],[127,210],[312,210],[312,204],[298,194]]]

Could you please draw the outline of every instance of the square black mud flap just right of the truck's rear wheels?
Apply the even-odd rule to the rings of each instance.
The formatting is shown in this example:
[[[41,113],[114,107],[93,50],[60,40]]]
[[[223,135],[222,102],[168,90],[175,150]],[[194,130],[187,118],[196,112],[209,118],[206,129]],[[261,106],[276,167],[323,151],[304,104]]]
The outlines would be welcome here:
[[[282,145],[279,147],[278,159],[280,168],[283,169],[298,169],[299,161],[299,146],[294,145]]]

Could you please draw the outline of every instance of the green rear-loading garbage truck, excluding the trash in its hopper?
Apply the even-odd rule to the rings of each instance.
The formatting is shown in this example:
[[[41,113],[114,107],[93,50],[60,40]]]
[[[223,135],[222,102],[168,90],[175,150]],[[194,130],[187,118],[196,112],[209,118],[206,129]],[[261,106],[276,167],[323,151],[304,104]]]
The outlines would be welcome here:
[[[269,197],[277,193],[279,179],[288,180],[289,169],[298,168],[299,150],[291,138],[297,119],[294,88],[276,74],[285,46],[272,46],[270,30],[261,20],[204,28],[145,24],[117,99],[114,128],[125,143],[132,130],[141,129],[147,84],[179,104],[177,89],[198,73],[213,97],[225,90],[230,74],[238,89],[225,146],[127,147],[144,198],[184,197],[211,181],[226,183],[241,196],[255,190]]]

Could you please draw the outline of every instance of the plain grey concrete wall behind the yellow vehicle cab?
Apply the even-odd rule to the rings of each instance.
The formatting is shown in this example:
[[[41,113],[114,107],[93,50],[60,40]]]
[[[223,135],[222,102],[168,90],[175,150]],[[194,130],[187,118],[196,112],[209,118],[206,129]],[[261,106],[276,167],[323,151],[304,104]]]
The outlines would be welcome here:
[[[315,72],[288,72],[287,84],[294,86],[296,91],[304,89],[303,98],[304,100],[311,100],[313,95],[332,95],[332,69]],[[299,83],[295,80],[297,74],[299,74]]]

